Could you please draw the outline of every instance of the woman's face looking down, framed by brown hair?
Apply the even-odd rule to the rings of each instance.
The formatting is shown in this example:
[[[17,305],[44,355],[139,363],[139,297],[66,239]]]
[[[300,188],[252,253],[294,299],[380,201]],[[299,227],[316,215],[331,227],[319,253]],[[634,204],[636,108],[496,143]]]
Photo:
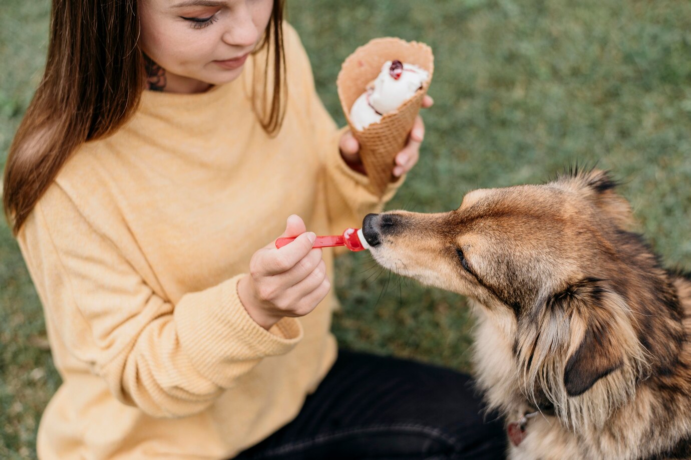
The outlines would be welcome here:
[[[164,91],[196,93],[235,80],[269,24],[273,0],[139,0],[144,53]]]

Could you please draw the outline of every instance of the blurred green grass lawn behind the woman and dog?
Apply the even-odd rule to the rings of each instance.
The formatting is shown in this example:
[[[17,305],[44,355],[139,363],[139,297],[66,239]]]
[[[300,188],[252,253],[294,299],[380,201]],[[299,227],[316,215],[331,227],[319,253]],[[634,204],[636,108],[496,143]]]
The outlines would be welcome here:
[[[50,3],[2,0],[0,167],[39,82]],[[343,125],[334,82],[368,39],[432,46],[432,109],[419,164],[389,209],[456,208],[477,187],[540,183],[575,163],[625,181],[641,230],[670,266],[691,268],[691,2],[679,0],[289,0],[319,94]],[[341,257],[343,347],[457,369],[468,364],[462,297]],[[35,457],[59,385],[39,300],[0,223],[0,458]]]

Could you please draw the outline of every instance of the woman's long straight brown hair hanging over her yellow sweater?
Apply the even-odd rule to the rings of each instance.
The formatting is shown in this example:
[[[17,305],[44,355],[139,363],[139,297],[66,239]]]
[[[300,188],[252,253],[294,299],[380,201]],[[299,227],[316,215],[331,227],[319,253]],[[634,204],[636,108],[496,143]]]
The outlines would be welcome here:
[[[258,47],[275,50],[266,53],[263,100],[254,105],[270,136],[281,129],[285,114],[283,1],[274,0]],[[70,154],[87,140],[113,134],[133,115],[147,76],[138,47],[137,0],[53,0],[50,17],[46,69],[5,167],[3,206],[15,235]],[[274,91],[267,101],[269,59]]]

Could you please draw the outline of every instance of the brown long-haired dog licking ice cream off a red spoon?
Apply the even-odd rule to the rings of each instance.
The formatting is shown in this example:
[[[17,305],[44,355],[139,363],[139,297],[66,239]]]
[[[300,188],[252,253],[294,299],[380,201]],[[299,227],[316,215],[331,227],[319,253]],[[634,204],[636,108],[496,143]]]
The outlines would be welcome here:
[[[468,297],[474,373],[509,458],[691,458],[691,277],[632,231],[608,172],[368,214],[381,266]]]

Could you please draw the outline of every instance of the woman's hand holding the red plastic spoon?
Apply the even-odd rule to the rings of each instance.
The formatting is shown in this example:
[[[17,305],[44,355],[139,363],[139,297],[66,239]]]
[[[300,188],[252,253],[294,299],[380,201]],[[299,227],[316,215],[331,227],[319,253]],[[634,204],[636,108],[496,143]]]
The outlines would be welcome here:
[[[316,236],[305,230],[300,217],[288,217],[281,237],[299,236],[281,249],[272,242],[255,252],[249,275],[238,282],[240,302],[264,329],[284,316],[307,315],[331,288],[321,249],[312,249]]]

